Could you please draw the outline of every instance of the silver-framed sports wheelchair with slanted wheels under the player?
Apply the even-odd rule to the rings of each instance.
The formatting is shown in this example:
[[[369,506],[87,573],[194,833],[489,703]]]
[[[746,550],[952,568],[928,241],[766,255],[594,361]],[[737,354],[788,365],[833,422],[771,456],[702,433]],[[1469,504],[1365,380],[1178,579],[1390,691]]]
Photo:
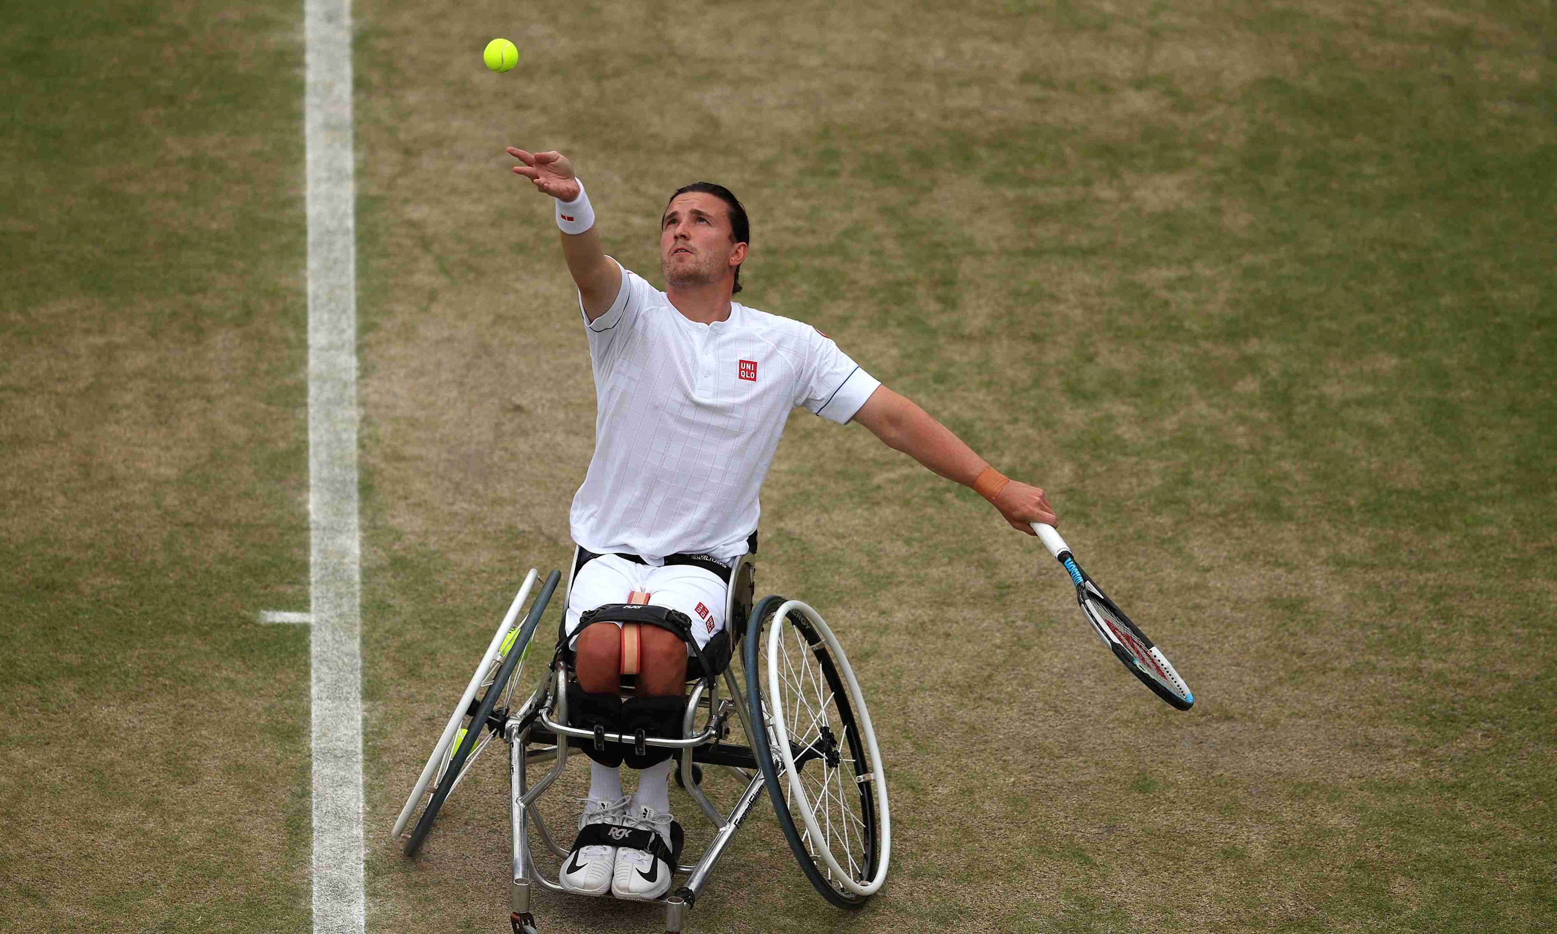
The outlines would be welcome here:
[[[570,567],[567,590],[579,568],[579,551]],[[531,570],[492,635],[395,819],[391,839],[403,841],[405,855],[416,855],[448,795],[500,736],[509,749],[512,808],[509,922],[514,934],[537,934],[531,912],[534,889],[564,889],[559,873],[548,878],[536,858],[550,855],[561,867],[568,855],[542,817],[539,799],[562,774],[568,750],[621,744],[641,757],[655,746],[673,750],[679,760],[677,785],[713,825],[713,837],[698,859],[684,862],[680,853],[674,859],[673,872],[685,878],[679,887],[673,881],[657,900],[665,904],[666,932],[682,929],[715,864],[764,789],[789,850],[816,890],[835,906],[863,906],[886,881],[892,850],[886,774],[859,682],[821,613],[797,599],[754,599],[757,567],[750,554],[741,556],[730,568],[724,615],[729,643],[713,646],[710,640],[716,651],[694,651],[688,658],[691,690],[685,696],[680,735],[646,735],[641,729],[609,733],[599,724],[575,725],[570,718],[568,688],[576,680],[562,627],[550,662],[537,665],[539,657],[531,651],[561,576],[561,571],[547,576],[520,618],[539,578]],[[613,621],[613,616],[596,620]],[[730,663],[736,654],[743,677],[736,677]],[[528,694],[515,691],[526,676],[537,683]],[[626,676],[623,682],[623,693],[631,693]],[[719,694],[721,683],[726,696]],[[744,746],[727,743],[733,729],[744,735]],[[543,763],[551,767],[532,783],[531,767]],[[729,809],[721,811],[705,794],[705,766],[727,769],[738,778],[736,788],[744,783]]]

